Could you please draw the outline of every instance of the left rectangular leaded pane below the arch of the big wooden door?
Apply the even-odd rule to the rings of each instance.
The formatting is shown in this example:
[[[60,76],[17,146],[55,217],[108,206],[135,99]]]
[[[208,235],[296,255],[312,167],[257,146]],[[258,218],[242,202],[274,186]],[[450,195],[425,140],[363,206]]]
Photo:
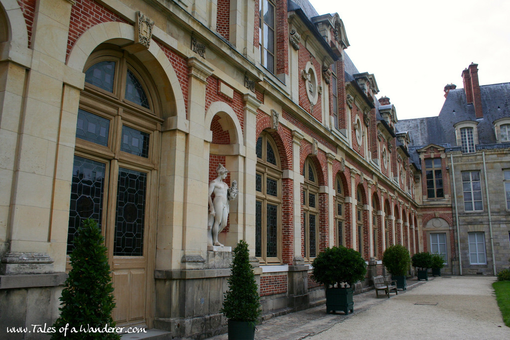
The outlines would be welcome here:
[[[110,120],[103,118],[85,110],[78,110],[78,120],[76,123],[76,137],[108,146],[108,136],[110,133]]]

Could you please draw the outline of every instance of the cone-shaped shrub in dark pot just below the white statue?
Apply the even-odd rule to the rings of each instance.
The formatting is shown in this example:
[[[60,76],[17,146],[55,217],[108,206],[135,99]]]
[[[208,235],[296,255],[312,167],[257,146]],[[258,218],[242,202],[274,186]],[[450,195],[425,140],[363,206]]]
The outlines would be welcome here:
[[[234,248],[228,291],[220,311],[228,319],[229,340],[254,338],[255,325],[262,311],[248,244],[243,240]]]

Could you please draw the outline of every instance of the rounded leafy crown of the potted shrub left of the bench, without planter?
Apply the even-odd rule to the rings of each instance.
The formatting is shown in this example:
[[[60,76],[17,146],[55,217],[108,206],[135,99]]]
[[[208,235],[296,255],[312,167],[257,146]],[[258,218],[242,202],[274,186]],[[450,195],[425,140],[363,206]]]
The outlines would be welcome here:
[[[341,287],[341,283],[352,286],[363,280],[367,273],[367,263],[360,252],[343,246],[326,248],[315,257],[312,263],[312,278],[326,287]]]

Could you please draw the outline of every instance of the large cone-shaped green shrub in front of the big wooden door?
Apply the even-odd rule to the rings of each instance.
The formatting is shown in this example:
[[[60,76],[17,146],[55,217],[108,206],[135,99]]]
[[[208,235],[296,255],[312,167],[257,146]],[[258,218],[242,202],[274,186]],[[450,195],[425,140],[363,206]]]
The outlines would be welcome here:
[[[52,339],[120,339],[114,332],[78,332],[80,330],[106,325],[114,327],[111,317],[115,302],[110,278],[107,248],[96,221],[84,220],[74,239],[74,250],[70,254],[72,269],[64,283],[60,301],[60,317],[53,327],[56,332]],[[67,334],[59,332],[68,324]],[[65,335],[65,336],[64,336]]]

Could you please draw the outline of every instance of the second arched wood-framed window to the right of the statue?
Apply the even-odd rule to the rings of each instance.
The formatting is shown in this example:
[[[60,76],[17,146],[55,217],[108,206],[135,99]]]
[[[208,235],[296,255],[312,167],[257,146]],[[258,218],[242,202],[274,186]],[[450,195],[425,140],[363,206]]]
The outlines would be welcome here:
[[[319,239],[317,232],[319,224],[319,182],[315,166],[310,158],[304,162],[303,176],[304,257],[311,260],[317,256]]]

